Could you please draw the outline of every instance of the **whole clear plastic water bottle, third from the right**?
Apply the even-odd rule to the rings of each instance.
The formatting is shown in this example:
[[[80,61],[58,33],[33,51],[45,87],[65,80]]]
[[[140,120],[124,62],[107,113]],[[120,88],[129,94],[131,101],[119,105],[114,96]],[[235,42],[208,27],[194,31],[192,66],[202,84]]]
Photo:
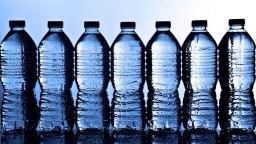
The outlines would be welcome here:
[[[146,51],[149,128],[177,131],[180,127],[181,47],[170,32],[171,22],[156,22]]]

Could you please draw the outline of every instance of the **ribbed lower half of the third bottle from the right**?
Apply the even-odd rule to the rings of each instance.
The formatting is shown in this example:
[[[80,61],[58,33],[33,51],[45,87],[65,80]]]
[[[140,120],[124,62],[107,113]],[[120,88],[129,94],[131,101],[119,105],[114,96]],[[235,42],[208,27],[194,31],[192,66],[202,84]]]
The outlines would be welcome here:
[[[153,131],[177,131],[180,128],[181,107],[178,91],[148,93],[147,118]]]

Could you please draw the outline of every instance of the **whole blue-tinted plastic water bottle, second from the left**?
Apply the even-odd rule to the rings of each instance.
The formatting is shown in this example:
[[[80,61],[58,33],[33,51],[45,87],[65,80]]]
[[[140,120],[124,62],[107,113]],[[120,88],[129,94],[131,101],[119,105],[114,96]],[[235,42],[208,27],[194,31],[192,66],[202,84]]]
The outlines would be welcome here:
[[[73,46],[62,21],[49,21],[39,44],[40,131],[69,131],[74,124],[70,88],[74,79]]]

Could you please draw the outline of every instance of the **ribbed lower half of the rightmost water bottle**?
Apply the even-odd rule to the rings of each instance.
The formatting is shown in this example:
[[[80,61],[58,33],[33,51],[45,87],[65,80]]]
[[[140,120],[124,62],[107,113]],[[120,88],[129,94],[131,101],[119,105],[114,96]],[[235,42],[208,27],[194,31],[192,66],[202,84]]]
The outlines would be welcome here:
[[[255,100],[252,91],[222,91],[219,123],[224,131],[252,132],[255,128]]]

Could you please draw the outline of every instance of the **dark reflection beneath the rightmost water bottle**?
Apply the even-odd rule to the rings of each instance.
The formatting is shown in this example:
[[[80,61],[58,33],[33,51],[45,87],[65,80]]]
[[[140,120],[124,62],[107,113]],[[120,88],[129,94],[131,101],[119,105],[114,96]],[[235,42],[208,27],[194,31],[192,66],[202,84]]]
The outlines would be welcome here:
[[[255,144],[256,137],[254,132],[250,133],[234,133],[221,131],[220,132],[220,143],[222,144]]]

